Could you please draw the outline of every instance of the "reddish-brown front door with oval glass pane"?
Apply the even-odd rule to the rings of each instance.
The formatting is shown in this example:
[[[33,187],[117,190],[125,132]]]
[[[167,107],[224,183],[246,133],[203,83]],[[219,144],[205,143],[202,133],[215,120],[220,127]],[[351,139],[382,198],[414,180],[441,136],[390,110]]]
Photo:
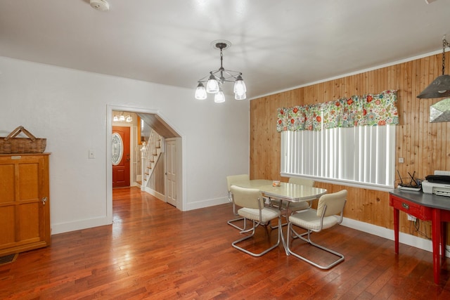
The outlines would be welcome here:
[[[129,127],[113,126],[111,139],[113,188],[129,186]]]

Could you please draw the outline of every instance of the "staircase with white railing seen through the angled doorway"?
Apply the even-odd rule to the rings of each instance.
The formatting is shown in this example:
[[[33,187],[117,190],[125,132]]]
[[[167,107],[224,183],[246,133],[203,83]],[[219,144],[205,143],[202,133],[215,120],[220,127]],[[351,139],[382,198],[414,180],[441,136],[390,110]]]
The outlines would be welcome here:
[[[148,181],[150,181],[156,163],[158,162],[158,159],[160,159],[161,153],[163,152],[163,145],[164,141],[162,136],[152,129],[150,136],[148,137],[148,141],[143,142],[141,148],[141,190],[146,190],[146,186],[148,185]]]

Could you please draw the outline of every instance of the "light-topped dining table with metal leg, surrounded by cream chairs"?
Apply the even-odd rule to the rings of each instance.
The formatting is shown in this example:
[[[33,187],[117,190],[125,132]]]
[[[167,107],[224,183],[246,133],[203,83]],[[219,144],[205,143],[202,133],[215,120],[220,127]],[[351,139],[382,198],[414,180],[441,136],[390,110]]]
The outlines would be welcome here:
[[[240,186],[241,188],[257,188],[261,191],[264,197],[270,199],[277,199],[280,201],[279,208],[283,207],[283,201],[288,202],[305,202],[311,201],[326,194],[327,190],[324,188],[314,188],[308,185],[300,185],[297,183],[280,183],[280,185],[274,185],[272,181],[266,179],[253,179],[250,181],[238,181],[233,185]],[[288,216],[287,216],[288,217]],[[280,216],[281,218],[281,216]],[[286,255],[289,255],[288,247],[286,246],[283,226],[278,226],[280,230],[281,242],[285,249]]]

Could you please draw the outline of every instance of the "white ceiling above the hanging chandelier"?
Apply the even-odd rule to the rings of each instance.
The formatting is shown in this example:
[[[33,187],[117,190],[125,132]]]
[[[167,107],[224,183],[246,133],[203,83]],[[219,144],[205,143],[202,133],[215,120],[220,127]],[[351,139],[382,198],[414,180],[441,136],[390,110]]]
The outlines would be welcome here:
[[[89,0],[0,0],[0,56],[194,93],[220,66],[211,42],[225,39],[224,67],[256,98],[439,53],[450,39],[450,0],[107,1],[101,12]]]

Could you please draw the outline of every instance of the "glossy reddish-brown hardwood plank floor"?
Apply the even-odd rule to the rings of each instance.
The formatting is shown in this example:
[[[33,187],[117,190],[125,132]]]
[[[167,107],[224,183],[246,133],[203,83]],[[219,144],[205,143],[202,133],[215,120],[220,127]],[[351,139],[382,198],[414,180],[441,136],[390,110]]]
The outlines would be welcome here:
[[[260,258],[231,247],[231,204],[181,212],[139,188],[113,198],[112,226],[53,235],[0,266],[0,299],[450,299],[449,267],[435,285],[430,252],[400,244],[396,256],[393,241],[352,228],[312,236],[345,255],[323,271],[281,246]],[[265,243],[257,231],[249,247]]]

